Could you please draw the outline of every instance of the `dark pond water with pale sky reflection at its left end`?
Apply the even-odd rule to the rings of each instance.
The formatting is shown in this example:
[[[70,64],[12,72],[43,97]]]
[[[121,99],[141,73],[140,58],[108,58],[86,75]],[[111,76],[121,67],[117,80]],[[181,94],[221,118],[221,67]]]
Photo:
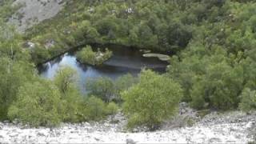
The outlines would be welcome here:
[[[168,65],[167,62],[162,62],[158,58],[144,58],[143,53],[138,49],[122,46],[108,46],[108,49],[113,51],[113,57],[102,66],[80,64],[73,51],[38,66],[39,74],[44,78],[52,79],[61,66],[70,66],[77,71],[78,86],[82,92],[86,93],[85,84],[88,78],[109,77],[114,80],[124,74],[132,74],[136,77],[143,67],[163,73]]]

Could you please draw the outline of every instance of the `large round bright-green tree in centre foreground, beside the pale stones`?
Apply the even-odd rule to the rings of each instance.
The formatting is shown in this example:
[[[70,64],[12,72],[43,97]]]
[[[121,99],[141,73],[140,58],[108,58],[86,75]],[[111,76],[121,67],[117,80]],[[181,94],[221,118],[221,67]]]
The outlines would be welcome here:
[[[144,125],[154,130],[175,114],[182,88],[172,79],[142,70],[138,84],[123,92],[122,98],[123,109],[129,116],[128,126]]]

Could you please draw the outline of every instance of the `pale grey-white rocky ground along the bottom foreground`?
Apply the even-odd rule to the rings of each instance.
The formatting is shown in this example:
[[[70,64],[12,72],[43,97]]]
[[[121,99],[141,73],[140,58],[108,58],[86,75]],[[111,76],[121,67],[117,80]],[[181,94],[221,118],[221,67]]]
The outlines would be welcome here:
[[[193,126],[165,124],[154,132],[128,132],[121,113],[114,117],[116,123],[108,118],[102,122],[63,123],[53,129],[6,122],[0,123],[0,143],[246,143],[254,139],[255,121],[256,114],[212,113]]]

